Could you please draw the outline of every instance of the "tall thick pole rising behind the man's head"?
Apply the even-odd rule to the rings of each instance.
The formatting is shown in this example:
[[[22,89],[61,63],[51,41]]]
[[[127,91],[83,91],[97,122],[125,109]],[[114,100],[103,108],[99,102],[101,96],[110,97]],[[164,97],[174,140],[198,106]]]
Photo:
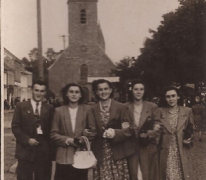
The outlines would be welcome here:
[[[44,80],[44,63],[42,58],[42,32],[41,32],[41,0],[37,0],[37,38],[38,38],[38,77]]]

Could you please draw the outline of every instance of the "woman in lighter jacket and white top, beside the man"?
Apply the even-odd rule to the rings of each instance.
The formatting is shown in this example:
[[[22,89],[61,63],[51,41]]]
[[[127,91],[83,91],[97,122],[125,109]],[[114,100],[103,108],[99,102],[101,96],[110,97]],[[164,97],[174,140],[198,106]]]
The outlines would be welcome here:
[[[87,180],[87,170],[75,169],[72,164],[90,107],[82,104],[83,90],[74,83],[62,89],[62,98],[64,105],[56,108],[51,128],[51,139],[57,146],[55,180]]]

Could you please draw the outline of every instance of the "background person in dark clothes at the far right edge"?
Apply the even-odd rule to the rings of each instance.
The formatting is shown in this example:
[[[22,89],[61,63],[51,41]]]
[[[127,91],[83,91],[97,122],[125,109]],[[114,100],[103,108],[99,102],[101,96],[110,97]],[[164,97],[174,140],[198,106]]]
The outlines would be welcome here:
[[[195,104],[192,106],[194,116],[195,131],[199,134],[199,142],[202,142],[202,131],[205,122],[205,107],[201,103],[200,96],[195,97]]]

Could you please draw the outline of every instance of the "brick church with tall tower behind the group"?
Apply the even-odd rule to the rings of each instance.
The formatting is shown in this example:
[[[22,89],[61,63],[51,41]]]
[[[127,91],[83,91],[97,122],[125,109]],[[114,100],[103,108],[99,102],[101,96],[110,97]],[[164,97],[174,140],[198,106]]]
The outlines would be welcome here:
[[[98,0],[68,0],[69,47],[49,67],[49,88],[57,98],[68,83],[78,83],[93,96],[91,82],[112,77],[114,64],[105,53],[105,41],[97,20]]]

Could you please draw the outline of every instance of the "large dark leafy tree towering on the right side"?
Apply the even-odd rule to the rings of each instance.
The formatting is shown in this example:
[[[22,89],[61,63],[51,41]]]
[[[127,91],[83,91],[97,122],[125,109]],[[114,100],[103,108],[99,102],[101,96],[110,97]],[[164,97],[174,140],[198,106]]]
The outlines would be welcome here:
[[[149,32],[152,38],[146,40],[137,62],[151,86],[205,79],[205,0],[181,0],[175,12],[163,15],[157,31]]]

